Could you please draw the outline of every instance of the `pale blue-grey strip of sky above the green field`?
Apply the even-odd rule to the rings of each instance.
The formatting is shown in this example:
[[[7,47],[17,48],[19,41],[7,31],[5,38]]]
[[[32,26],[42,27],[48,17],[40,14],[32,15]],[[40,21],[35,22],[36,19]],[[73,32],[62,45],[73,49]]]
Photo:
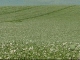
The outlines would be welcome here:
[[[80,5],[80,0],[0,0],[0,6],[14,5]]]

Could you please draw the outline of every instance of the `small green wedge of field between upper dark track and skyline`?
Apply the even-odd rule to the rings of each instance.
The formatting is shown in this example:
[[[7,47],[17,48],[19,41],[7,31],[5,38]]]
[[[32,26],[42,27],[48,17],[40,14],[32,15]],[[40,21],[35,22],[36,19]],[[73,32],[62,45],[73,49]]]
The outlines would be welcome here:
[[[33,8],[33,7],[12,7],[12,8],[10,7],[10,8],[6,8],[6,9],[0,9],[0,15],[24,11],[24,10],[31,9],[31,8]]]

